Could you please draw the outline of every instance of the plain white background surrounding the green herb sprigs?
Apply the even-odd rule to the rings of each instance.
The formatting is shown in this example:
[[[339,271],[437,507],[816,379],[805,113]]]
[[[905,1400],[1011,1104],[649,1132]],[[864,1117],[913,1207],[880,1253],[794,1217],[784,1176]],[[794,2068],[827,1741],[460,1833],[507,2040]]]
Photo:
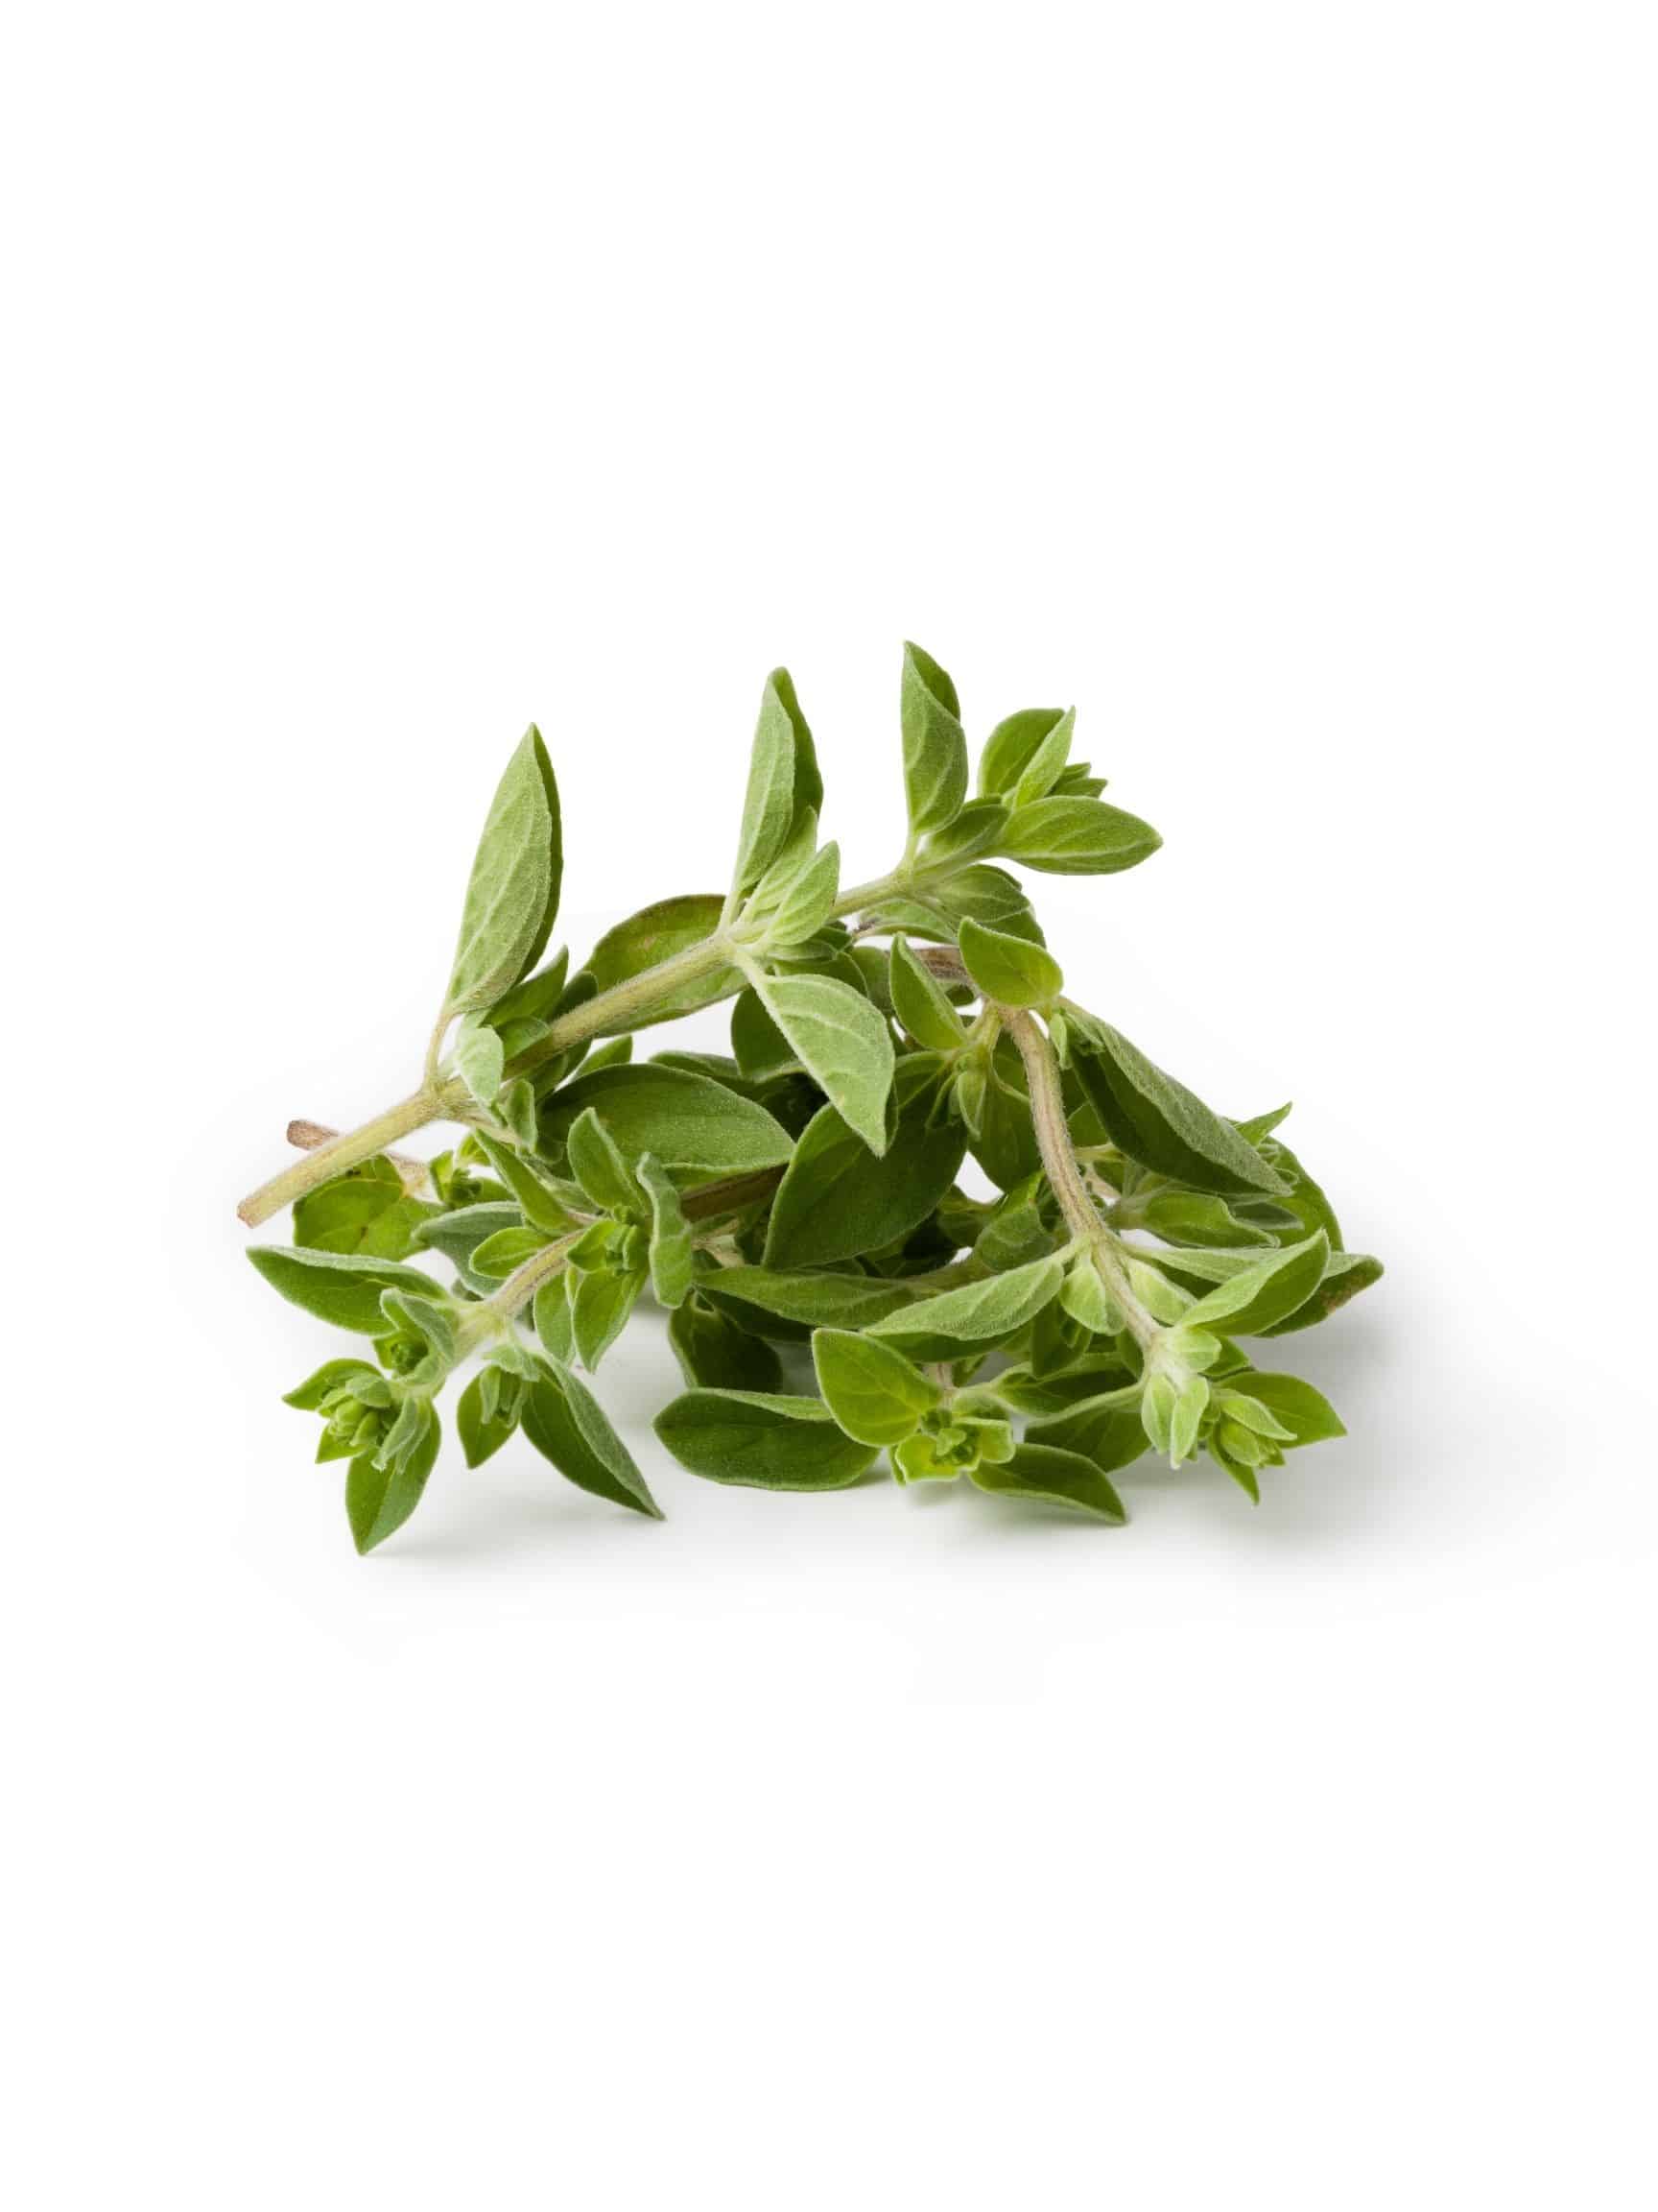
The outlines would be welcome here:
[[[20,2205],[1649,2205],[1651,11],[77,9],[0,49]],[[765,670],[1165,849],[1070,989],[1388,1276],[1251,1509],[356,1559],[241,1261],[546,730],[581,951]],[[1638,1283],[1638,1274],[1643,1281]]]

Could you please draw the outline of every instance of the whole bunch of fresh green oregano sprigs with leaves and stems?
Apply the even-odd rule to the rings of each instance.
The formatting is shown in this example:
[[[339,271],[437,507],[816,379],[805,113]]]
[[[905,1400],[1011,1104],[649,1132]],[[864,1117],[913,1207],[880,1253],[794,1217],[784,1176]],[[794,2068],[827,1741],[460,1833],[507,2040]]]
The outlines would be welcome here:
[[[787,670],[760,699],[730,891],[665,898],[573,969],[544,960],[562,818],[531,728],[473,860],[418,1088],[241,1206],[292,1245],[252,1263],[365,1338],[287,1394],[345,1460],[358,1551],[420,1504],[438,1398],[469,1467],[522,1431],[581,1489],[657,1500],[586,1376],[641,1298],[685,1391],[657,1436],[692,1473],[836,1491],[880,1458],[1125,1517],[1112,1475],[1207,1453],[1249,1498],[1340,1436],[1253,1338],[1373,1283],[1278,1128],[1234,1121],[1063,993],[1021,880],[1136,867],[1158,836],[1072,761],[1074,712],[997,723],[968,796],[948,675],[904,650],[909,836],[851,889],[822,843],[818,754]],[[732,1000],[732,1051],[634,1037]],[[389,1150],[431,1124],[438,1159]],[[997,1192],[959,1188],[968,1155]],[[453,1270],[440,1283],[416,1261]]]

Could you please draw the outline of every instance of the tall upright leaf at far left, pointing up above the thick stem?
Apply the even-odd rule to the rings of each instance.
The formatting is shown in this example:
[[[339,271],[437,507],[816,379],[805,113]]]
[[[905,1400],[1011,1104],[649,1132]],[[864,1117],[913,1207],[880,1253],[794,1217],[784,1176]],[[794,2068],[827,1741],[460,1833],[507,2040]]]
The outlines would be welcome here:
[[[559,911],[559,794],[531,723],[506,763],[478,841],[460,918],[447,1011],[489,1006],[535,967]]]

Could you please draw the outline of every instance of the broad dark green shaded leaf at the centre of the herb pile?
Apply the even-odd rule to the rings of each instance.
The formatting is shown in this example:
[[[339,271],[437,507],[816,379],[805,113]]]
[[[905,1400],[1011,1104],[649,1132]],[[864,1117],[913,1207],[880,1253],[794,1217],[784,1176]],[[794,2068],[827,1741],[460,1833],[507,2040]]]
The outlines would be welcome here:
[[[940,1115],[937,1062],[898,1064],[891,1144],[871,1159],[833,1106],[805,1126],[772,1201],[767,1267],[820,1267],[880,1252],[909,1237],[946,1194],[966,1152],[966,1130]]]

